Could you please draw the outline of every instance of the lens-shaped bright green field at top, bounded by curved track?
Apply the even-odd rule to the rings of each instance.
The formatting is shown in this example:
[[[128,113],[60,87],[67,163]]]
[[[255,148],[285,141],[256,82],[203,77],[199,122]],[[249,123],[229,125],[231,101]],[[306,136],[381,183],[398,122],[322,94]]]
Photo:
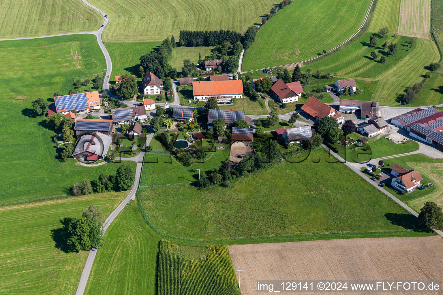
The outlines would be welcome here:
[[[294,1],[260,28],[241,69],[250,71],[294,63],[332,49],[357,31],[369,3],[363,0]]]

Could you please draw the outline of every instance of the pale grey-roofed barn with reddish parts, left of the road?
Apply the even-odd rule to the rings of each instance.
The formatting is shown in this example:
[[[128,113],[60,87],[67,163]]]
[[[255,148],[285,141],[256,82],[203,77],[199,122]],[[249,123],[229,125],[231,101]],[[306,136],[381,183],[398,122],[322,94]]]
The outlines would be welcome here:
[[[75,146],[72,157],[83,161],[97,161],[104,159],[112,142],[112,136],[101,132],[93,132],[80,137]]]

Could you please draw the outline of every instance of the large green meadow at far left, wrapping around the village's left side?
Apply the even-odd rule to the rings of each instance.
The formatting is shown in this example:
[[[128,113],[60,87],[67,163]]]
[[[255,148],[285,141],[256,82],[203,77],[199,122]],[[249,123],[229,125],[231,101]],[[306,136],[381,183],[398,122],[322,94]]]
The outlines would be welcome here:
[[[66,195],[75,181],[115,174],[120,164],[83,167],[74,159],[60,161],[54,131],[45,127],[43,116],[31,115],[32,100],[42,97],[50,103],[55,91],[67,93],[73,77],[103,71],[105,58],[96,37],[3,41],[0,55],[0,121],[8,122],[0,133],[0,203]],[[17,134],[27,140],[18,140]]]

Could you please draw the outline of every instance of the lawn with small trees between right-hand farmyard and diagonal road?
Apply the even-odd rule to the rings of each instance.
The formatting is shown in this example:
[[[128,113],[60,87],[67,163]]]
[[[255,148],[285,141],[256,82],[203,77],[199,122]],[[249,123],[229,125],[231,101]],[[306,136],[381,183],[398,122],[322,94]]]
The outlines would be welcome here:
[[[338,155],[350,162],[367,162],[371,159],[378,159],[382,157],[389,157],[393,155],[400,155],[402,153],[410,153],[419,149],[417,142],[410,140],[408,144],[400,143],[396,144],[388,139],[388,135],[384,135],[379,139],[377,136],[369,138],[369,142],[361,147],[356,147],[355,145],[344,146],[335,144],[334,150],[339,151]],[[359,138],[364,137],[361,135]],[[355,150],[354,150],[355,147]],[[346,156],[344,155],[346,150]],[[388,160],[386,160],[388,161]]]

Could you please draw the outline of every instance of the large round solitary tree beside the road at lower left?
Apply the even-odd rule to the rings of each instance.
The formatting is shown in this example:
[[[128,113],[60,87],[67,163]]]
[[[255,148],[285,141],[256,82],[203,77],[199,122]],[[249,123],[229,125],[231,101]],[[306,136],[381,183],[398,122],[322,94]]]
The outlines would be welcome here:
[[[71,251],[88,250],[103,245],[103,230],[97,218],[73,218],[67,226],[66,244]]]

